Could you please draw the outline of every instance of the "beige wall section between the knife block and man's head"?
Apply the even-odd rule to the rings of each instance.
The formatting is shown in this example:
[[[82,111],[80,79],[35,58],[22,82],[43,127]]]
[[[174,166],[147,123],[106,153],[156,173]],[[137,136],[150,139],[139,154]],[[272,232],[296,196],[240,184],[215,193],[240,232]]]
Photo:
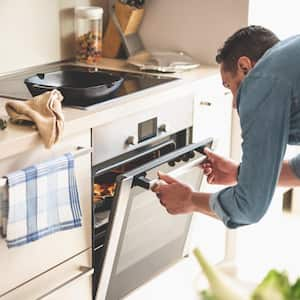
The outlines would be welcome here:
[[[141,26],[150,49],[184,50],[202,63],[215,63],[224,40],[248,24],[248,0],[148,0]]]

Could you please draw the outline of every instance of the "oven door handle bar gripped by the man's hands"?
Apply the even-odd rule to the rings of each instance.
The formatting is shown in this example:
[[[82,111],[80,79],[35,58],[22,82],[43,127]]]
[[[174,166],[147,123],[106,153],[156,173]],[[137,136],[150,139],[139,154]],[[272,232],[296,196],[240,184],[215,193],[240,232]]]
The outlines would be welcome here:
[[[199,157],[198,159],[193,160],[190,163],[184,164],[182,167],[168,173],[169,176],[176,177],[180,176],[186,172],[188,172],[190,169],[199,166],[204,160],[206,159],[206,156],[203,155],[202,157]],[[145,190],[151,190],[153,187],[155,187],[158,184],[163,183],[162,180],[159,178],[150,180],[145,176],[136,176],[133,178],[133,186],[139,186],[144,188]]]

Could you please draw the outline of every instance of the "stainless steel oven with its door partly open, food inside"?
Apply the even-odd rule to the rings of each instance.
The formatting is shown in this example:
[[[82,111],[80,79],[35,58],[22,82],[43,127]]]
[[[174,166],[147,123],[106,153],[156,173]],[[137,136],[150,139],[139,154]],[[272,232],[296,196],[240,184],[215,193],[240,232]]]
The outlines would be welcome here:
[[[160,124],[160,119],[135,123],[136,136],[119,137],[125,150],[113,158],[105,160],[109,151],[102,143],[103,161],[93,166],[97,300],[121,299],[187,254],[192,215],[168,214],[150,188],[160,170],[199,190],[203,148],[212,139],[193,144],[191,126],[182,128],[187,123],[178,120],[179,130],[168,130],[168,122]],[[102,131],[109,135],[109,130]],[[118,148],[111,147],[113,153]]]

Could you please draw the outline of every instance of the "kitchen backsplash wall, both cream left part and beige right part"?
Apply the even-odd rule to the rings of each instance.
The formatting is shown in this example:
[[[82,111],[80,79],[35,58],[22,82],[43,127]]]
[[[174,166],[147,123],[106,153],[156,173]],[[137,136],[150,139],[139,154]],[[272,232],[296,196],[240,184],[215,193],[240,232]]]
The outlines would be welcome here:
[[[73,7],[118,0],[1,0],[0,73],[74,56]],[[149,49],[184,50],[214,63],[216,49],[248,23],[248,1],[147,0],[140,29]]]

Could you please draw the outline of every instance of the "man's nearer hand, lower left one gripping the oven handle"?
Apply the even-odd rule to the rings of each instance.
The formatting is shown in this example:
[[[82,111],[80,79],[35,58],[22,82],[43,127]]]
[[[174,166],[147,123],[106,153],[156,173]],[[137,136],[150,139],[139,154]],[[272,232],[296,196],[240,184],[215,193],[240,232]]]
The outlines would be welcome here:
[[[164,183],[155,185],[152,191],[156,193],[160,203],[168,213],[176,215],[190,213],[195,210],[192,201],[193,191],[188,185],[160,172],[158,177]]]

